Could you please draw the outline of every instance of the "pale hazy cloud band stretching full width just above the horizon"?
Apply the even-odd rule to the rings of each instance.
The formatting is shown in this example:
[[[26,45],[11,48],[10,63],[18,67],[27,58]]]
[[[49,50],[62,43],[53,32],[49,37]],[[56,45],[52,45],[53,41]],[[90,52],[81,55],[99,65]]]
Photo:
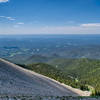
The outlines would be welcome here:
[[[80,24],[75,26],[28,26],[23,22],[16,23],[13,27],[0,28],[4,34],[100,34],[99,23]],[[21,27],[21,25],[23,25]],[[5,30],[6,29],[6,30]]]

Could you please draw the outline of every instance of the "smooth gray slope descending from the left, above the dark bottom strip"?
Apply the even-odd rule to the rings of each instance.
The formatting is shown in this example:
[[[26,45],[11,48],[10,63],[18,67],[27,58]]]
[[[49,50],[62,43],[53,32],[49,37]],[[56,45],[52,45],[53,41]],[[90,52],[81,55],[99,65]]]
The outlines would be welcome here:
[[[0,59],[0,95],[78,96],[59,83]]]

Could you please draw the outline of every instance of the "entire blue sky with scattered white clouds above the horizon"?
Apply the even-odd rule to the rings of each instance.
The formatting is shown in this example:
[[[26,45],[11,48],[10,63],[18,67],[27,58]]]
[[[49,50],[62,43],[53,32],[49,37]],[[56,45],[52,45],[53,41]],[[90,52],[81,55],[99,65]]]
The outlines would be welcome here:
[[[0,34],[100,34],[100,0],[0,0]]]

